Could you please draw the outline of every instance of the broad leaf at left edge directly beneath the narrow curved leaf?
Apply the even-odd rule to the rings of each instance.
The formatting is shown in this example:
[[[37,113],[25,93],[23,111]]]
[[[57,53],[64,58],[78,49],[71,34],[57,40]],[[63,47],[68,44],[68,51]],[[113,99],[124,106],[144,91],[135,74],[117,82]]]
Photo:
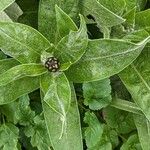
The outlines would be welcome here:
[[[0,105],[15,101],[24,94],[39,88],[38,77],[24,77],[5,86],[0,86]]]

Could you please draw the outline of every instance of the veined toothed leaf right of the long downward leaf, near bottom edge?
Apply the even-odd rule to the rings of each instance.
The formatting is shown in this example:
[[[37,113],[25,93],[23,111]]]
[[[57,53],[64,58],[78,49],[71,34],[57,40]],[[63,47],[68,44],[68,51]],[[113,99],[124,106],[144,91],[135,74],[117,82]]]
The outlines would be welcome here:
[[[104,126],[101,124],[94,113],[86,112],[84,122],[88,124],[85,130],[86,145],[90,149],[100,141]]]

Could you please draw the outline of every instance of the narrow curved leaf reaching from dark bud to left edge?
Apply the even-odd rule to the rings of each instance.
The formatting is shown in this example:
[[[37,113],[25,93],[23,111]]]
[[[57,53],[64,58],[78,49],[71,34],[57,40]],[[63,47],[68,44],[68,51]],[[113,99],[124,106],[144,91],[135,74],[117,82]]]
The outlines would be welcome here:
[[[17,65],[8,71],[0,74],[0,86],[5,86],[14,80],[23,77],[36,77],[47,72],[47,69],[41,64],[23,64]]]

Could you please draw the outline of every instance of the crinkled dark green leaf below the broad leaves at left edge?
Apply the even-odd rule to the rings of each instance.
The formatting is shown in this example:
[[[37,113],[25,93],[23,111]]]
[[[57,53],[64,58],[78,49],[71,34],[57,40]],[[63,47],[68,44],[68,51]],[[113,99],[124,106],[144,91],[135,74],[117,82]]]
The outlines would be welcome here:
[[[9,122],[19,123],[22,126],[28,126],[33,123],[35,112],[31,110],[30,99],[28,95],[21,96],[18,100],[1,106],[1,111],[5,114]]]

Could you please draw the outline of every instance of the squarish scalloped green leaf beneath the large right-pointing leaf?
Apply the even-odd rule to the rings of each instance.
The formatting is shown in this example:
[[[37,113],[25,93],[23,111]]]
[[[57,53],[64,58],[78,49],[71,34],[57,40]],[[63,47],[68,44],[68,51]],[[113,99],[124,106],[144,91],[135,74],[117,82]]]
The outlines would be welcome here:
[[[110,80],[100,80],[83,84],[84,104],[92,110],[102,109],[111,102]]]

